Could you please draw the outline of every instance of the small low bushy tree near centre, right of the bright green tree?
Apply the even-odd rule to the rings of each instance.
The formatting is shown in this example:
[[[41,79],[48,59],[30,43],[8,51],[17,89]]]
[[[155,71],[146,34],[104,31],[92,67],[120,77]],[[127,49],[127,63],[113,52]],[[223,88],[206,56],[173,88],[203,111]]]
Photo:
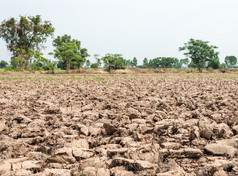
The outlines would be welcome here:
[[[106,54],[102,61],[104,66],[110,72],[112,69],[125,69],[125,59],[121,54]]]

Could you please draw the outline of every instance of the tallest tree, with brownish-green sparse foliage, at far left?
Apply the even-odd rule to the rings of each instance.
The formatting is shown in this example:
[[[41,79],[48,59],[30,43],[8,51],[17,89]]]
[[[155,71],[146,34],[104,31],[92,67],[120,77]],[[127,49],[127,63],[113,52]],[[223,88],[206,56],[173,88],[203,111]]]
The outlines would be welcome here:
[[[39,52],[47,38],[53,35],[54,30],[52,24],[49,21],[42,21],[40,15],[20,16],[19,21],[12,17],[1,23],[0,38],[6,41],[7,48],[12,52],[12,59],[24,59],[21,67],[29,67],[31,53]]]

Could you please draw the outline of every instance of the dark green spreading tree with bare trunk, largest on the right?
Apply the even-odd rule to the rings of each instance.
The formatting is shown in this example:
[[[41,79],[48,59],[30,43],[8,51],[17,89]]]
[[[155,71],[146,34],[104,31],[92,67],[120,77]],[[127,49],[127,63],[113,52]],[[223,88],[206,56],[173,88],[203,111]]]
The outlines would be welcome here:
[[[179,48],[180,51],[184,51],[185,56],[192,60],[200,73],[205,63],[217,58],[219,54],[215,51],[217,47],[208,45],[208,43],[207,41],[190,39],[183,47]]]

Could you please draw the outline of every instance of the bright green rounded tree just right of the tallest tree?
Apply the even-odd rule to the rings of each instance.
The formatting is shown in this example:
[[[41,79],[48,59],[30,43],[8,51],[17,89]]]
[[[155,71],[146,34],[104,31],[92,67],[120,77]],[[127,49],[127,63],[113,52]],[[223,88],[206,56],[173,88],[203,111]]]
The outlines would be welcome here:
[[[60,67],[65,68],[69,73],[71,66],[80,69],[86,61],[86,57],[89,56],[86,48],[81,48],[81,42],[75,39],[71,39],[71,36],[64,35],[58,36],[53,40],[54,57],[59,60]]]

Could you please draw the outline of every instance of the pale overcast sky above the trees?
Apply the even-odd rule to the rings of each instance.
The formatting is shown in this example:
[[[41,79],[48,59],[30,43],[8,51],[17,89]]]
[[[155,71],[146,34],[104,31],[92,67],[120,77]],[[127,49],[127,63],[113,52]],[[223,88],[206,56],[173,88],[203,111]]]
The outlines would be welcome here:
[[[137,57],[184,58],[178,51],[190,38],[218,46],[221,61],[238,57],[237,0],[0,0],[0,21],[19,15],[41,15],[68,34],[91,56],[106,53]],[[53,50],[46,43],[45,57]],[[0,60],[10,52],[0,39]],[[93,57],[91,57],[93,58]],[[93,59],[91,59],[93,61]]]

